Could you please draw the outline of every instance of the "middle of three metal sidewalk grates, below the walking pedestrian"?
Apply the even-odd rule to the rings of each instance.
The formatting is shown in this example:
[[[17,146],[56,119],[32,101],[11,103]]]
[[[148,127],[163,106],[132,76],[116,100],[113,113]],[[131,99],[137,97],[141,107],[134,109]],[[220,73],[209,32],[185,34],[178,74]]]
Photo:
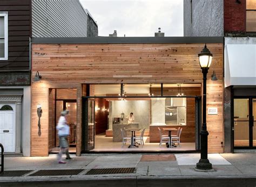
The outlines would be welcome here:
[[[54,169],[39,170],[29,176],[57,176],[57,175],[78,175],[83,169]]]

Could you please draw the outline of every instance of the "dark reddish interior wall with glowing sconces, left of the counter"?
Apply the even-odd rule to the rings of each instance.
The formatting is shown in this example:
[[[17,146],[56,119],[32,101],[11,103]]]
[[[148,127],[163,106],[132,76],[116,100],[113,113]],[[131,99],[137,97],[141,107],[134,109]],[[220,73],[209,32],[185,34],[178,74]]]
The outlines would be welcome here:
[[[97,110],[99,108],[99,110]],[[109,102],[104,98],[95,99],[95,133],[105,133],[107,130],[107,117],[109,116]],[[105,110],[106,109],[106,110]]]

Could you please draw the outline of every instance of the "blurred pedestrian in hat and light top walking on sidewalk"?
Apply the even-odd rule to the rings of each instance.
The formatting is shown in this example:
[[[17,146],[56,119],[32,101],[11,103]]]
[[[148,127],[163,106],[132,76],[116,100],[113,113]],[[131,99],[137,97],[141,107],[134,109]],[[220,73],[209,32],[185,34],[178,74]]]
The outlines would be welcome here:
[[[59,154],[57,156],[58,163],[66,163],[62,161],[62,154],[65,152],[66,154],[66,160],[72,160],[72,158],[69,155],[69,143],[68,143],[68,136],[69,136],[69,125],[66,122],[66,115],[69,114],[69,111],[62,111],[60,113],[58,125],[56,126],[56,129],[58,130],[58,138],[59,138]]]

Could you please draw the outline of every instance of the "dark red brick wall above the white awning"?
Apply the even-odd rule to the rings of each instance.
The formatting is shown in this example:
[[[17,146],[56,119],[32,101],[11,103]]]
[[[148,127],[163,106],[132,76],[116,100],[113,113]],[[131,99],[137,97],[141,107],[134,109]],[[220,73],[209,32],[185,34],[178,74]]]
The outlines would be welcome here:
[[[238,4],[234,0],[224,1],[224,32],[246,32],[246,0],[240,0]]]

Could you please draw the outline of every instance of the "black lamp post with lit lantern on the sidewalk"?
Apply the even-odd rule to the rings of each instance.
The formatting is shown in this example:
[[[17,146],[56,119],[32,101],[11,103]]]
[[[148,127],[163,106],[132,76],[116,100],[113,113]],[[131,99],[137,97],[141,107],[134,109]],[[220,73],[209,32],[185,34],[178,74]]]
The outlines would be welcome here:
[[[203,124],[202,124],[202,130],[201,130],[201,158],[199,162],[197,163],[196,169],[200,170],[209,170],[212,169],[212,164],[209,162],[207,158],[207,148],[208,148],[208,131],[206,126],[206,80],[207,80],[207,73],[208,69],[211,66],[212,63],[212,54],[207,49],[206,44],[201,51],[201,53],[198,54],[199,57],[199,64],[202,69],[203,73]]]

